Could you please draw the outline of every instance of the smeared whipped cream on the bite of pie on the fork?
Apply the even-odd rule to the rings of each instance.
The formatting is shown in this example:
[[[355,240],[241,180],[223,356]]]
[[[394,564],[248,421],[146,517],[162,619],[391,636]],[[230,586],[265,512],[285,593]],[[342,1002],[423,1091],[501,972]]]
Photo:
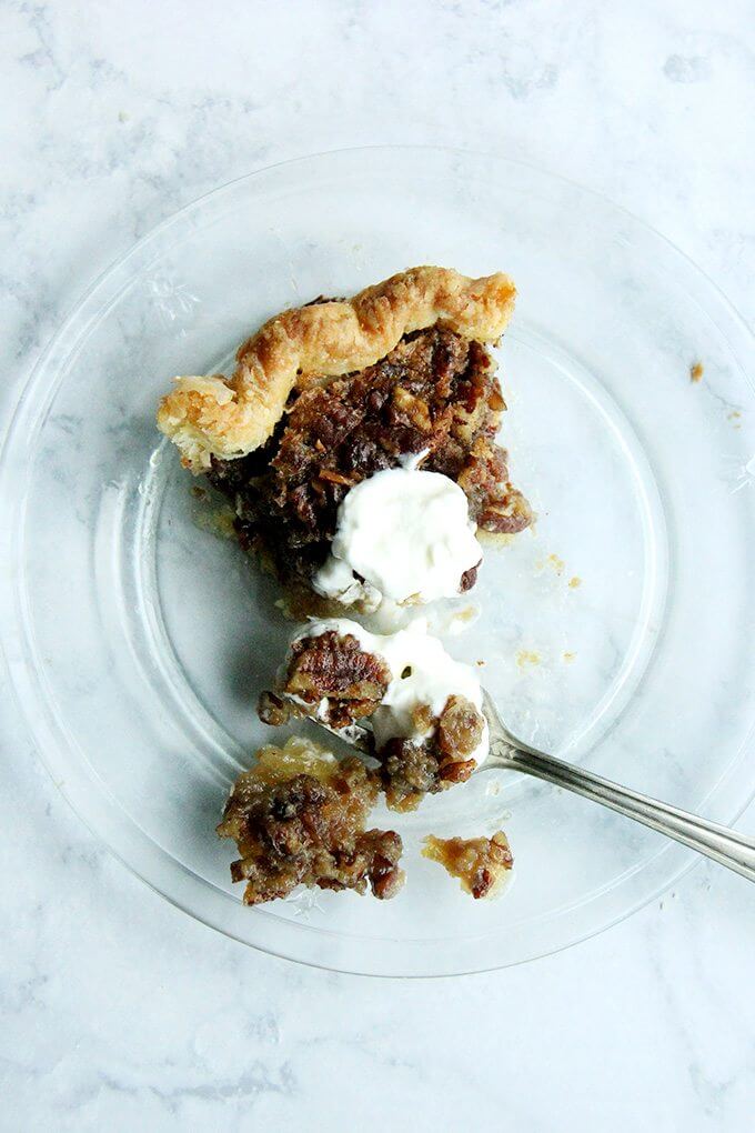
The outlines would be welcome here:
[[[446,653],[443,642],[428,633],[423,617],[395,633],[370,633],[348,617],[333,617],[310,622],[298,638],[319,637],[328,631],[340,637],[350,633],[366,653],[383,657],[391,670],[386,693],[370,717],[378,748],[394,736],[422,740],[430,735],[435,725],[427,731],[417,729],[414,713],[422,705],[429,705],[432,716],[438,717],[448,697],[461,696],[482,713],[482,688],[477,672]],[[488,747],[486,723],[480,744],[471,756],[478,766],[488,755]]]

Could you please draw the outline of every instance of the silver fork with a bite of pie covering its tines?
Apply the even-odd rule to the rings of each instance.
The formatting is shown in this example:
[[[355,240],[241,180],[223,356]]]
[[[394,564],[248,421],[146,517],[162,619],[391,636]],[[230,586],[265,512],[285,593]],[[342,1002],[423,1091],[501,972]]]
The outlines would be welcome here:
[[[755,840],[531,748],[509,732],[491,697],[484,691],[483,709],[490,729],[490,753],[481,770],[499,768],[524,772],[525,775],[534,775],[535,778],[563,786],[585,799],[592,799],[593,802],[600,802],[619,815],[634,818],[755,881]],[[354,724],[344,734],[328,727],[323,721],[315,723],[358,751],[370,751],[369,731],[363,725]]]

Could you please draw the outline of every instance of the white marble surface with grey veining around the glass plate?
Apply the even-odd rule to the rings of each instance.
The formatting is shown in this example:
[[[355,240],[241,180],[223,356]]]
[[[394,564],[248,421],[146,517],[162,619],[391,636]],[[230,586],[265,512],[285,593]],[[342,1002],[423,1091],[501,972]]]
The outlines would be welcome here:
[[[135,238],[250,169],[355,144],[554,168],[755,316],[747,0],[61,0],[7,3],[0,27],[3,412]],[[752,1127],[745,881],[700,866],[619,927],[497,974],[329,976],[140,885],[60,802],[5,689],[1,718],[0,1127]]]

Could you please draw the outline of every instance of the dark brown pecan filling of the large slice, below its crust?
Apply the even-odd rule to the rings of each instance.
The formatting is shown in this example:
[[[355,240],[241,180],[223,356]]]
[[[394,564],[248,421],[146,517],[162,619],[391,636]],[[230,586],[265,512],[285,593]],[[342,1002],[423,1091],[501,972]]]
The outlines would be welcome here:
[[[463,489],[478,528],[511,534],[532,519],[495,443],[505,409],[486,347],[432,326],[402,338],[380,361],[327,384],[294,389],[265,445],[212,457],[207,476],[237,511],[244,550],[289,585],[310,585],[349,488],[411,453]],[[477,569],[460,578],[474,585]]]

